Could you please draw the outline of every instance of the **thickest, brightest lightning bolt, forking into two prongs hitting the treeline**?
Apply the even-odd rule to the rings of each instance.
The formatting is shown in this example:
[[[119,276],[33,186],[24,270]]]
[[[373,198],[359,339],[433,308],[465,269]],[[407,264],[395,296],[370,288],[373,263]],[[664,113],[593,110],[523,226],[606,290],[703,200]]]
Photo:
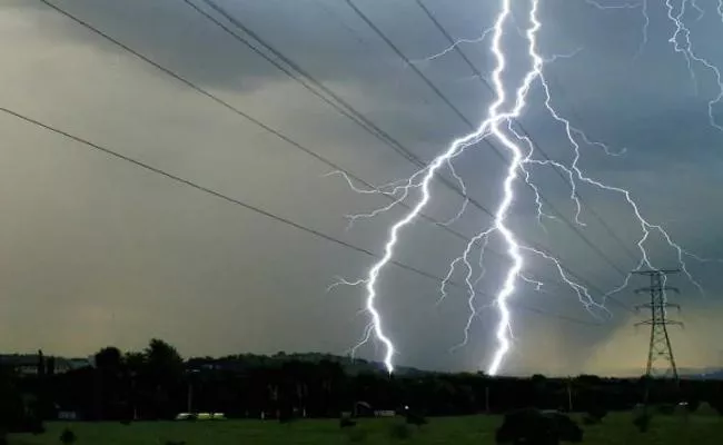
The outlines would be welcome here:
[[[392,358],[394,356],[394,345],[392,344],[390,339],[384,334],[384,329],[382,326],[382,319],[378,310],[376,309],[375,306],[375,300],[377,297],[376,293],[376,283],[378,280],[379,273],[382,269],[389,263],[392,256],[394,255],[394,248],[396,247],[399,231],[409,225],[422,211],[422,209],[426,206],[426,204],[429,200],[429,182],[434,178],[436,171],[443,166],[444,162],[448,162],[452,158],[455,156],[459,155],[462,150],[469,145],[473,145],[483,138],[487,137],[488,135],[492,135],[497,139],[502,145],[507,149],[507,151],[511,152],[512,159],[507,169],[507,175],[505,177],[504,184],[503,184],[503,199],[497,207],[497,211],[494,215],[494,224],[493,226],[474,237],[469,244],[467,245],[464,254],[455,259],[449,268],[449,271],[447,276],[443,279],[442,281],[442,287],[440,287],[440,294],[442,297],[439,301],[442,301],[445,296],[446,296],[446,290],[445,287],[448,283],[448,280],[452,278],[452,275],[454,274],[456,265],[462,261],[464,263],[467,274],[465,277],[465,284],[467,286],[468,290],[468,306],[469,306],[469,317],[467,320],[467,324],[464,329],[464,342],[460,345],[466,344],[468,337],[469,337],[469,328],[472,326],[473,320],[478,314],[478,310],[475,306],[475,297],[476,297],[476,291],[475,291],[475,285],[476,283],[481,279],[481,277],[477,278],[475,281],[472,280],[472,275],[473,275],[473,267],[472,264],[469,263],[469,254],[473,249],[473,247],[479,243],[481,240],[484,240],[483,244],[483,251],[481,251],[481,259],[479,263],[482,265],[482,259],[484,255],[484,248],[486,247],[488,243],[488,238],[493,234],[499,234],[503,239],[505,240],[507,245],[507,253],[512,259],[512,264],[509,266],[509,269],[507,270],[507,274],[505,276],[505,280],[503,283],[503,286],[498,294],[494,298],[494,305],[497,307],[498,313],[499,313],[499,322],[497,325],[496,329],[496,338],[497,338],[497,349],[493,356],[493,359],[487,368],[488,374],[495,375],[498,373],[499,367],[502,365],[502,362],[509,350],[511,347],[511,338],[512,338],[512,327],[511,327],[511,312],[508,308],[507,300],[512,296],[512,294],[515,290],[515,281],[517,278],[521,277],[521,271],[523,268],[523,257],[521,255],[521,248],[523,246],[519,245],[519,243],[516,239],[516,236],[512,233],[512,230],[506,226],[506,216],[512,207],[513,200],[514,200],[514,184],[518,179],[518,172],[523,171],[525,174],[525,179],[528,185],[532,186],[533,190],[535,191],[536,195],[536,202],[537,202],[537,208],[539,211],[541,216],[544,216],[545,214],[542,211],[542,200],[539,197],[539,192],[537,187],[529,180],[529,176],[527,171],[524,168],[524,164],[529,160],[532,156],[532,141],[528,139],[527,142],[531,146],[531,154],[527,156],[523,155],[522,148],[515,144],[513,140],[511,140],[505,132],[501,129],[501,123],[503,121],[507,122],[507,126],[511,126],[511,122],[513,119],[516,119],[521,116],[522,110],[526,106],[526,97],[527,92],[529,91],[529,88],[532,83],[535,81],[535,79],[539,78],[542,75],[542,67],[544,63],[544,59],[537,53],[536,50],[536,33],[542,27],[542,23],[537,20],[537,8],[538,8],[538,0],[534,0],[532,2],[532,8],[529,10],[529,21],[532,26],[527,29],[526,31],[526,37],[529,43],[529,50],[528,50],[528,56],[529,59],[533,63],[532,69],[525,75],[525,78],[521,85],[521,87],[517,89],[516,92],[516,101],[514,108],[509,112],[501,112],[499,108],[505,103],[507,97],[506,97],[506,90],[505,86],[502,80],[502,73],[504,72],[506,68],[506,59],[504,51],[501,46],[502,37],[503,37],[503,29],[506,20],[511,16],[511,0],[503,0],[502,1],[502,11],[497,16],[495,20],[495,24],[493,27],[493,43],[492,43],[492,52],[495,57],[496,60],[496,67],[493,71],[492,75],[492,83],[493,83],[493,90],[495,91],[496,99],[495,101],[491,105],[488,109],[488,117],[485,121],[481,123],[481,126],[477,128],[477,130],[462,139],[455,140],[448,149],[440,155],[439,157],[435,158],[435,160],[425,169],[419,170],[417,174],[412,176],[408,180],[405,181],[404,186],[397,186],[393,189],[394,192],[397,192],[399,189],[403,190],[402,196],[396,199],[394,202],[392,202],[389,206],[383,207],[380,209],[377,209],[370,214],[366,215],[360,215],[356,217],[373,217],[376,215],[379,215],[380,212],[387,211],[392,207],[396,206],[397,204],[402,202],[406,197],[408,196],[408,191],[410,188],[420,188],[422,190],[422,199],[417,202],[415,207],[412,208],[409,212],[406,214],[406,216],[397,221],[389,230],[389,237],[387,238],[387,244],[385,245],[385,255],[384,257],[375,264],[372,269],[368,273],[368,276],[366,279],[363,281],[366,283],[367,287],[367,310],[372,315],[372,326],[374,327],[374,334],[376,335],[376,338],[379,339],[386,347],[386,354],[385,354],[385,366],[388,372],[394,370],[394,366],[392,363]],[[512,129],[509,127],[509,129]],[[513,131],[518,138],[524,139],[519,137],[516,132]],[[600,146],[605,147],[605,150],[607,150],[607,147],[600,144]],[[454,174],[454,171],[453,171]],[[460,178],[458,178],[455,174],[455,177],[460,181]],[[420,180],[417,182],[416,180]],[[347,178],[348,180],[348,178]],[[572,176],[571,176],[572,180]],[[353,184],[349,181],[349,184],[353,186]],[[394,182],[394,184],[400,184],[400,182]],[[573,181],[574,185],[574,181]],[[375,192],[372,190],[366,190],[366,192]],[[577,196],[575,192],[573,192],[572,198],[577,201]],[[580,204],[578,204],[580,206]],[[556,258],[552,257],[548,254],[545,254],[543,251],[539,251],[537,249],[533,249],[529,247],[524,247],[525,249],[542,256],[543,258],[551,260],[555,264],[555,266],[558,269],[558,273],[563,280],[572,288],[574,289],[581,301],[584,303],[586,308],[591,308],[592,306],[600,307],[592,296],[590,295],[588,290],[584,287],[581,286],[573,280],[571,280],[566,274],[563,270],[562,265],[559,264],[559,260]],[[524,278],[522,278],[524,279]],[[537,281],[533,281],[535,285],[537,285]],[[604,308],[603,308],[604,309]],[[604,309],[606,310],[606,309]],[[356,347],[360,346],[361,344],[366,343],[370,336],[365,336],[363,342],[357,345]],[[356,348],[355,347],[355,348]]]

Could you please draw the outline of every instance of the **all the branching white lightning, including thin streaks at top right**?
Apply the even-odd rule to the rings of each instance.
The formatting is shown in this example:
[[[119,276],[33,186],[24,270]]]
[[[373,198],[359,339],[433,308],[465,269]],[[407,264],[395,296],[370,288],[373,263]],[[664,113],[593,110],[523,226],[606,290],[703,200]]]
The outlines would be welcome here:
[[[647,16],[647,2],[643,1],[642,3],[624,3],[621,6],[608,7],[597,3],[593,0],[585,0],[586,3],[601,9],[641,9],[643,16],[645,17],[644,31],[643,31],[643,43],[647,42],[647,26],[650,23],[650,18]],[[682,11],[679,11],[677,14],[674,14],[673,8],[671,7],[672,0],[667,0],[668,6],[668,18],[671,18],[677,27],[675,37],[671,40],[674,42],[676,51],[682,52],[686,59],[692,63],[693,61],[705,65],[711,68],[712,66],[704,61],[704,59],[699,58],[690,44],[689,32],[681,18],[684,13],[685,2],[683,0]],[[646,250],[646,243],[648,243],[653,234],[660,236],[668,247],[671,247],[677,257],[679,265],[686,277],[701,290],[703,291],[702,286],[694,279],[692,274],[689,270],[686,258],[693,258],[696,260],[703,260],[703,258],[691,254],[685,250],[680,244],[674,241],[674,239],[668,235],[668,233],[657,224],[650,222],[642,214],[640,206],[633,198],[631,191],[616,186],[611,186],[602,180],[595,179],[590,175],[583,171],[581,167],[582,158],[582,147],[595,147],[604,150],[608,156],[622,156],[625,152],[625,149],[622,150],[612,150],[607,145],[592,140],[586,136],[586,134],[574,127],[572,122],[565,118],[561,112],[556,110],[553,106],[553,95],[551,92],[549,85],[544,75],[544,66],[546,63],[553,62],[556,58],[559,57],[573,57],[574,53],[567,56],[555,56],[552,58],[543,58],[537,49],[537,34],[542,28],[542,23],[538,20],[537,13],[539,8],[539,0],[529,0],[529,12],[528,12],[528,27],[524,32],[524,38],[527,41],[527,58],[529,61],[529,69],[525,72],[524,78],[521,80],[518,87],[515,90],[514,96],[508,95],[508,87],[503,81],[503,73],[506,70],[506,55],[505,49],[503,48],[503,36],[504,30],[509,21],[512,21],[512,0],[501,0],[499,1],[499,12],[497,13],[494,26],[489,30],[485,30],[483,37],[486,37],[487,33],[492,33],[491,42],[491,52],[494,56],[495,67],[491,76],[491,89],[494,93],[494,100],[487,109],[487,115],[485,120],[483,120],[475,131],[454,140],[442,155],[437,156],[432,162],[418,170],[410,177],[404,180],[395,181],[382,186],[376,189],[359,189],[355,187],[353,181],[345,176],[349,186],[361,194],[383,194],[393,198],[393,201],[382,208],[378,208],[372,212],[351,215],[349,218],[354,221],[359,218],[372,218],[382,212],[388,211],[389,209],[403,204],[410,198],[410,192],[413,190],[418,191],[418,198],[416,198],[416,204],[408,206],[408,211],[405,212],[404,217],[398,219],[388,230],[386,243],[384,245],[384,255],[382,258],[374,264],[365,278],[357,281],[340,281],[340,284],[349,285],[365,285],[366,289],[366,305],[365,310],[369,315],[370,322],[367,328],[365,329],[365,335],[361,340],[354,347],[360,347],[361,345],[369,342],[373,337],[383,344],[385,354],[384,354],[384,365],[389,373],[394,372],[394,356],[396,349],[392,339],[385,334],[385,327],[383,324],[382,315],[377,307],[377,299],[379,298],[377,284],[382,276],[382,273],[385,270],[386,266],[393,260],[395,255],[396,247],[399,243],[399,238],[407,226],[409,226],[415,219],[417,219],[427,204],[430,201],[432,196],[429,191],[429,186],[439,171],[447,166],[452,172],[455,180],[460,185],[462,192],[466,196],[466,187],[463,179],[454,170],[452,161],[459,155],[462,155],[466,148],[472,147],[485,139],[492,139],[502,146],[505,151],[508,154],[508,165],[505,170],[505,177],[502,182],[502,198],[496,207],[496,210],[493,215],[493,221],[489,227],[481,230],[476,236],[474,236],[469,243],[466,245],[466,248],[462,255],[455,258],[447,271],[447,275],[440,283],[439,294],[440,297],[437,304],[442,303],[447,297],[447,285],[449,284],[455,270],[457,267],[463,267],[465,270],[464,283],[467,290],[467,305],[469,308],[469,315],[467,323],[464,327],[463,342],[453,349],[464,346],[469,339],[469,329],[474,319],[479,314],[479,307],[476,303],[478,291],[476,286],[484,278],[485,268],[484,268],[484,255],[488,246],[491,238],[497,237],[506,246],[506,255],[508,258],[508,266],[506,273],[504,274],[504,279],[498,291],[493,296],[493,301],[491,305],[497,309],[498,322],[495,329],[496,338],[496,349],[492,356],[491,362],[487,365],[487,373],[489,375],[498,374],[504,359],[509,352],[513,340],[513,328],[512,328],[512,313],[511,313],[511,298],[516,290],[516,284],[518,281],[525,281],[535,286],[535,290],[539,291],[543,287],[543,283],[537,279],[529,278],[528,275],[525,275],[523,271],[525,265],[525,256],[537,257],[545,261],[548,261],[557,271],[558,276],[562,278],[562,281],[568,286],[578,297],[583,306],[593,315],[595,318],[601,318],[601,314],[605,314],[607,317],[612,317],[610,310],[605,307],[605,301],[610,299],[614,294],[621,291],[627,287],[632,274],[627,274],[623,283],[606,293],[602,297],[602,303],[598,303],[593,298],[591,291],[582,284],[573,279],[568,273],[566,273],[565,267],[562,265],[562,261],[554,255],[545,251],[541,248],[533,247],[527,245],[522,237],[515,234],[507,226],[507,215],[509,214],[515,198],[515,185],[522,180],[534,194],[535,205],[537,209],[537,222],[544,228],[543,218],[545,219],[556,219],[555,217],[544,212],[543,199],[539,192],[538,187],[532,180],[531,170],[534,168],[554,168],[559,170],[563,174],[563,177],[566,178],[568,186],[571,188],[570,199],[575,205],[574,220],[575,224],[580,226],[585,226],[585,222],[582,221],[583,204],[581,201],[580,195],[577,192],[577,187],[581,184],[586,186],[594,187],[604,192],[611,192],[620,196],[624,202],[630,207],[633,215],[640,224],[641,236],[636,241],[636,246],[640,251],[640,259],[637,260],[635,270],[641,270],[643,267],[655,269],[650,255]],[[723,20],[723,0],[720,0],[719,11]],[[677,36],[682,33],[685,36],[684,41],[685,46],[679,46]],[[448,53],[453,50],[459,41],[456,41],[450,48],[445,49],[443,52],[433,56],[426,60],[434,60],[443,55]],[[642,48],[642,47],[641,47]],[[714,67],[712,68],[714,69]],[[691,72],[693,72],[691,70]],[[573,151],[572,161],[565,164],[562,161],[556,161],[545,157],[545,159],[536,158],[535,145],[533,144],[531,137],[524,131],[517,130],[517,119],[522,116],[523,110],[527,107],[527,96],[531,91],[533,85],[539,86],[544,93],[543,106],[549,113],[549,116],[564,129],[566,139],[570,142],[570,146]],[[723,96],[723,86],[721,87]],[[509,97],[508,97],[509,96]],[[508,101],[514,102],[512,106],[507,105]],[[720,100],[720,97],[719,97]],[[716,101],[710,103],[710,110],[712,110],[713,105]],[[507,109],[505,109],[507,107]],[[711,111],[712,112],[712,111]],[[712,115],[711,115],[712,119]],[[714,122],[714,120],[712,120]],[[462,209],[455,215],[452,220],[459,218],[464,212],[467,200],[463,205]],[[479,269],[478,276],[475,278],[473,266],[473,251],[476,247],[479,247],[479,257],[477,259],[477,268]]]

